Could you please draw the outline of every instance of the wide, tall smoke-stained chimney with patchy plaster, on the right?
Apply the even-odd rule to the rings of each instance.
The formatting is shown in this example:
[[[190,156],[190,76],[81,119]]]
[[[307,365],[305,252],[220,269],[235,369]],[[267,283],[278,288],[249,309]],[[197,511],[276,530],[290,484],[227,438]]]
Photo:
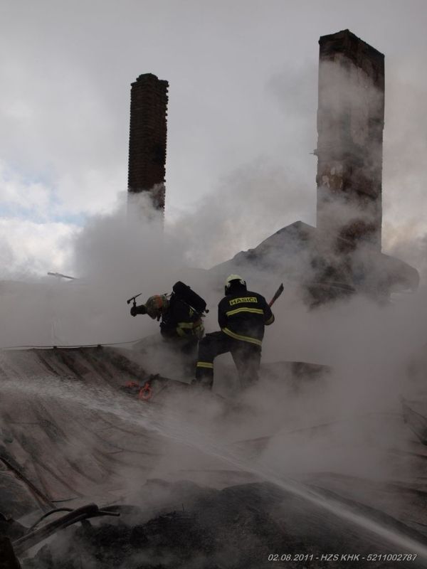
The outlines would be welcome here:
[[[349,30],[319,43],[317,228],[381,250],[384,55]]]

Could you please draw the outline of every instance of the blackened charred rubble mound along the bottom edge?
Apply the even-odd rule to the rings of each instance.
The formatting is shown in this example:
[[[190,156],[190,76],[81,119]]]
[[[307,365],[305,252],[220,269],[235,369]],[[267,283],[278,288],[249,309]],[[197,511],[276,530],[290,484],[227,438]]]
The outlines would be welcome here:
[[[354,555],[360,556],[360,568],[391,566],[388,560],[362,560],[372,551],[393,551],[388,543],[379,543],[368,531],[355,530],[273,484],[240,484],[223,490],[188,482],[159,484],[167,486],[175,501],[189,499],[191,507],[181,504],[181,510],[162,511],[148,521],[143,508],[125,508],[117,523],[69,528],[35,558],[23,560],[23,569],[259,569],[270,566],[271,555],[278,556],[276,567],[289,569],[345,569],[354,566]],[[359,514],[363,511],[363,506],[353,507]],[[421,538],[404,524],[385,520],[384,514],[381,519],[409,537]],[[331,554],[338,558],[325,557]],[[282,555],[288,555],[283,562]],[[402,569],[409,566],[421,565],[399,563]]]

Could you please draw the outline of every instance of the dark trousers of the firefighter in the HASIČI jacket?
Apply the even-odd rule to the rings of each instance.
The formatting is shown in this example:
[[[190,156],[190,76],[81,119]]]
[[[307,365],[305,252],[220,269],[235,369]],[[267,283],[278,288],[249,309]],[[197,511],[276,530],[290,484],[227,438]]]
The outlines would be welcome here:
[[[261,361],[261,346],[235,340],[223,331],[206,334],[199,341],[199,358],[196,364],[196,383],[211,388],[214,383],[214,359],[221,353],[230,352],[236,364],[241,387],[258,381]]]

